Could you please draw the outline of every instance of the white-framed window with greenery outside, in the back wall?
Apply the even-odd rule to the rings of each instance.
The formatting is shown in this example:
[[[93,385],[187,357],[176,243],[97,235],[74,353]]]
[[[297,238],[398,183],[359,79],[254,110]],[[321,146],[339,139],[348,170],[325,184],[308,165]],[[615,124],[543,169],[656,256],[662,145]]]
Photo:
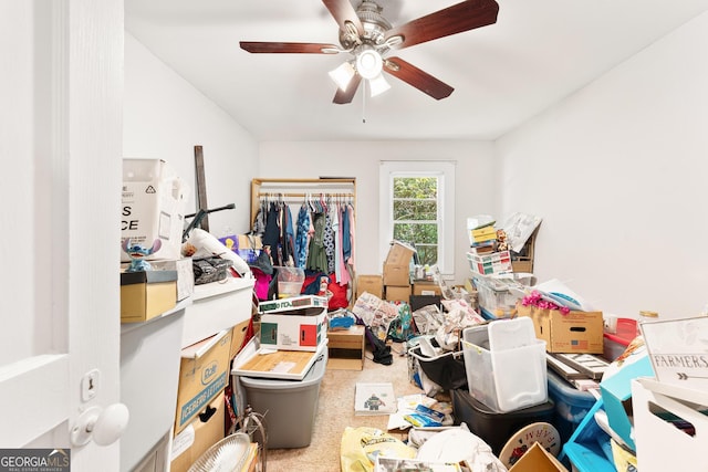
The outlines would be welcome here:
[[[454,273],[455,162],[383,161],[382,260],[392,239],[413,242],[421,264]]]

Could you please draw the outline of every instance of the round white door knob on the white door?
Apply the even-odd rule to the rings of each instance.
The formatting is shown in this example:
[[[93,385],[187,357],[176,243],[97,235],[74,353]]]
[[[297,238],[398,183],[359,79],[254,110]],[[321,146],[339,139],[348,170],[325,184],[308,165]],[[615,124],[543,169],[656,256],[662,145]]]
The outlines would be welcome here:
[[[105,409],[91,407],[81,413],[71,429],[71,443],[84,445],[93,439],[98,445],[112,444],[125,431],[128,419],[128,408],[123,403],[113,403]]]

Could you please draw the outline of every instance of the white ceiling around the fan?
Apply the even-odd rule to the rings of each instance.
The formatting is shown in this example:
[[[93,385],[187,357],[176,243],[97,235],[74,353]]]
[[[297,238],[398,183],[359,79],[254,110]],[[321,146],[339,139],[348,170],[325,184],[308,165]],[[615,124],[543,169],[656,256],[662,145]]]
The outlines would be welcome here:
[[[379,0],[398,25],[459,0]],[[360,0],[352,0],[354,7]],[[708,0],[498,0],[496,24],[396,51],[455,87],[332,103],[348,54],[250,54],[239,41],[337,43],[320,0],[125,0],[126,30],[258,140],[494,139],[708,10]]]

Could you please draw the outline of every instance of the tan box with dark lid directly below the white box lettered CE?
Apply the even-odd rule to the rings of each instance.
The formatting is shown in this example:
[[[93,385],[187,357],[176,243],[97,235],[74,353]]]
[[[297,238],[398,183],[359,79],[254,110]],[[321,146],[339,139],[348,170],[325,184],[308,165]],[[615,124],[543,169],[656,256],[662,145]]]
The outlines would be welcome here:
[[[177,272],[121,273],[121,323],[140,323],[177,305]]]

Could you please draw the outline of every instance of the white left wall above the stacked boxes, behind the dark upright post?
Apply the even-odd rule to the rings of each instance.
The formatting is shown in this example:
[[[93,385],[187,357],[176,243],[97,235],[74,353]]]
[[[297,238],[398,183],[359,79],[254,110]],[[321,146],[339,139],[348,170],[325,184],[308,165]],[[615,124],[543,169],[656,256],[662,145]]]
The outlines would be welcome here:
[[[125,32],[124,157],[164,159],[191,188],[187,213],[196,211],[195,146],[202,146],[209,216],[217,237],[250,228],[250,181],[257,177],[256,140],[222,108],[177,75]]]

